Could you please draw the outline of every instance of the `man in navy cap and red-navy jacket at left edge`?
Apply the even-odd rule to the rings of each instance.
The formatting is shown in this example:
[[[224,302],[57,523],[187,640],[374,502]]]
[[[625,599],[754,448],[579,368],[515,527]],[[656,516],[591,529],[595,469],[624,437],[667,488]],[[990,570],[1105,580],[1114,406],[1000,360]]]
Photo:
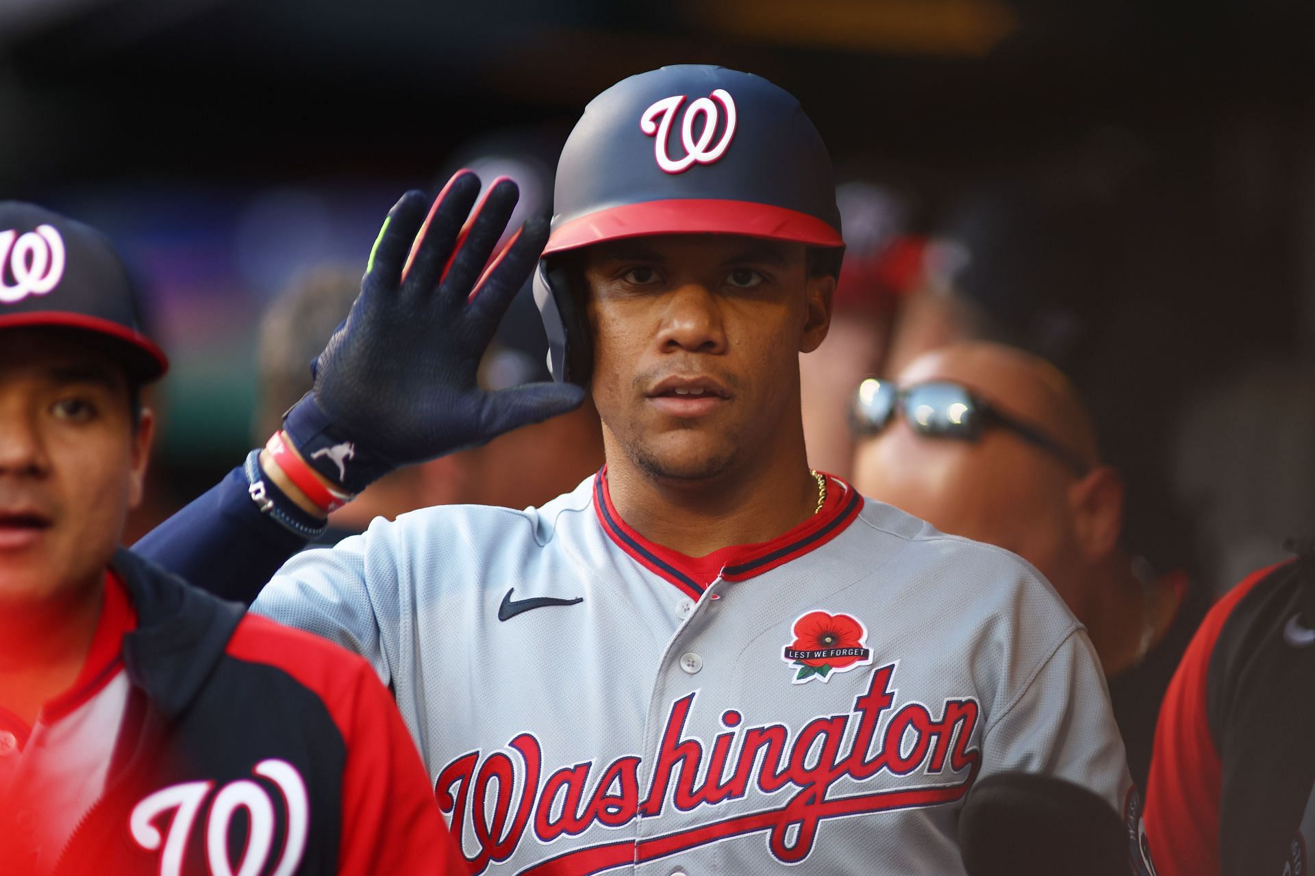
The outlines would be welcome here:
[[[104,238],[0,202],[0,872],[460,872],[363,659],[117,548],[166,366]]]

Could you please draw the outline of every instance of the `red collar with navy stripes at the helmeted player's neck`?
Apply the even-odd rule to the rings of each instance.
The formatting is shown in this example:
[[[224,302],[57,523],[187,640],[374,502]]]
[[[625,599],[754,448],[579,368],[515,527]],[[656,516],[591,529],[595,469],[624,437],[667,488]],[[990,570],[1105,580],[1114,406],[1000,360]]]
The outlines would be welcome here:
[[[844,532],[859,516],[863,496],[843,479],[832,474],[826,477],[827,496],[818,514],[771,541],[731,545],[702,557],[689,557],[650,541],[622,520],[611,504],[606,465],[594,478],[593,507],[604,531],[622,550],[654,574],[676,584],[686,595],[698,599],[704,588],[718,575],[726,580],[744,580],[761,575],[821,548]]]

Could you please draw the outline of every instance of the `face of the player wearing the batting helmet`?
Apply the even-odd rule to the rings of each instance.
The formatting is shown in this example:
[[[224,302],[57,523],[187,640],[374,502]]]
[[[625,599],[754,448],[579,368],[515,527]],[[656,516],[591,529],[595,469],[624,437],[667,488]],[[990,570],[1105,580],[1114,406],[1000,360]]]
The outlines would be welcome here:
[[[585,250],[605,441],[655,477],[705,479],[802,440],[798,353],[830,320],[802,244],[665,235]]]

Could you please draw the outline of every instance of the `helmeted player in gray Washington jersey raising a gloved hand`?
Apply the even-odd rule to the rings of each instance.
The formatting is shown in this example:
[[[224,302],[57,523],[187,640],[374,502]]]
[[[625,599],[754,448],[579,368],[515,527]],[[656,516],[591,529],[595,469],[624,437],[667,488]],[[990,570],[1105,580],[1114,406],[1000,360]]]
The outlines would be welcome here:
[[[141,545],[255,584],[370,478],[588,389],[606,465],[575,491],[375,520],[254,605],[392,686],[472,872],[963,873],[959,804],[1002,770],[1123,808],[1099,665],[1055,591],[809,469],[798,353],[843,240],[790,95],[704,66],[609,88],[551,234],[526,222],[487,271],[514,186],[463,230],[477,188],[393,208],[314,391]],[[531,269],[560,382],[480,393]]]

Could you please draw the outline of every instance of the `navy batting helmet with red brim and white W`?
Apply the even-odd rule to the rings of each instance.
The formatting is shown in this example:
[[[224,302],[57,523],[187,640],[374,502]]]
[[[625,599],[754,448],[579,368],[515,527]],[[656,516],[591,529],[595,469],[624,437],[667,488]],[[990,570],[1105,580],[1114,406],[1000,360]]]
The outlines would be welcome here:
[[[552,234],[534,278],[558,381],[586,385],[583,290],[554,256],[655,234],[739,234],[830,251],[844,240],[831,159],[789,92],[752,74],[680,64],[594,97],[558,162]]]

